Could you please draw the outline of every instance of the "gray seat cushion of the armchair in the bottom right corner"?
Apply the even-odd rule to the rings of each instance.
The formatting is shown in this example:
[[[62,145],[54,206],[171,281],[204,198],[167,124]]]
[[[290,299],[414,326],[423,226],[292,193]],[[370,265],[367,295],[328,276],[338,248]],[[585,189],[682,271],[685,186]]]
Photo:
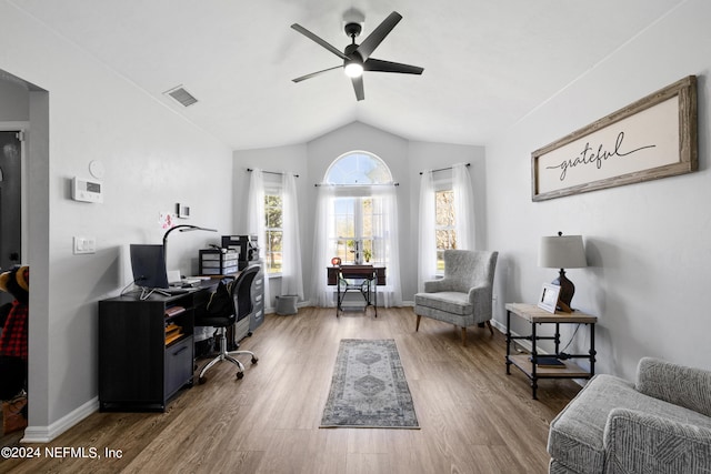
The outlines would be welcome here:
[[[647,396],[634,384],[613,375],[595,375],[551,422],[548,452],[580,473],[601,473],[603,436],[613,409],[650,412],[683,423],[711,427],[711,418],[692,410]]]

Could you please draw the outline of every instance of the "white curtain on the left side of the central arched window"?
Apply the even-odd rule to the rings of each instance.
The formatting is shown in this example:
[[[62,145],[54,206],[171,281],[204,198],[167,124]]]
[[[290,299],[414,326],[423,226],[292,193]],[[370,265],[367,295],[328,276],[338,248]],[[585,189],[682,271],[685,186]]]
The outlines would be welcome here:
[[[316,205],[316,235],[313,239],[313,264],[311,265],[311,303],[321,307],[334,306],[333,291],[328,285],[326,268],[336,255],[332,249],[334,226],[330,225],[333,214],[334,188],[321,185]]]

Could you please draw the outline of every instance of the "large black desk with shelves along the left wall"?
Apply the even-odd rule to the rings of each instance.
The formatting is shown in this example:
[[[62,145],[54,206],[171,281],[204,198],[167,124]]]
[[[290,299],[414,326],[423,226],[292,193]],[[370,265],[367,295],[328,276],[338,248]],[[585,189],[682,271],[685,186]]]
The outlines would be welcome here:
[[[192,386],[194,315],[218,281],[188,293],[140,300],[140,291],[99,302],[99,409],[166,411]]]

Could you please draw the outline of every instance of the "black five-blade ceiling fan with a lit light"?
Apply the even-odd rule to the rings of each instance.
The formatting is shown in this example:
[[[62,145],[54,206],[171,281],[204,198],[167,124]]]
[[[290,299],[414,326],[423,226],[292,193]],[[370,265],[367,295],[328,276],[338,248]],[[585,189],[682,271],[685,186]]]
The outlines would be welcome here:
[[[361,32],[360,23],[349,22],[346,24],[346,34],[351,38],[351,44],[347,46],[343,52],[334,48],[323,39],[317,37],[311,31],[307,30],[300,24],[292,24],[291,28],[303,34],[304,37],[321,44],[333,54],[343,60],[342,65],[336,65],[333,68],[324,69],[322,71],[312,72],[310,74],[302,75],[293,79],[293,82],[301,82],[307,79],[311,79],[316,75],[320,75],[324,72],[333,69],[343,68],[346,75],[351,78],[353,82],[353,89],[356,90],[356,98],[363,100],[365,94],[363,93],[363,71],[380,71],[380,72],[399,72],[402,74],[421,74],[424,69],[417,65],[402,64],[399,62],[383,61],[380,59],[371,58],[370,54],[378,48],[378,46],[385,39],[385,37],[392,31],[392,29],[402,20],[402,16],[397,11],[393,11],[385,18],[382,23],[378,26],[362,43],[356,44],[356,37]]]

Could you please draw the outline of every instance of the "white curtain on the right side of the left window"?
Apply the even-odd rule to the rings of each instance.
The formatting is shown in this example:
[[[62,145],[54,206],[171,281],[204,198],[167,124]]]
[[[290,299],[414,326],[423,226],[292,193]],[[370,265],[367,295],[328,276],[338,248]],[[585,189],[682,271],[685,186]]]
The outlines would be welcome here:
[[[293,173],[283,173],[281,178],[283,225],[281,294],[296,294],[299,296],[299,300],[303,300],[297,179]]]

